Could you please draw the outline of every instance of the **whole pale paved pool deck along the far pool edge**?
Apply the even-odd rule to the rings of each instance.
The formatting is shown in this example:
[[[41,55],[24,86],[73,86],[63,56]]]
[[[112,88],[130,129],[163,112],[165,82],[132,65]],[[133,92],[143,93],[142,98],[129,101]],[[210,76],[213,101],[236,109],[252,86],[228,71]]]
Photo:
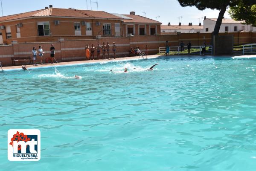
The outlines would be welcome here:
[[[163,55],[148,55],[147,58],[148,59],[152,59],[152,58],[157,58]],[[172,57],[185,57],[185,58],[191,58],[191,57],[210,57],[212,58],[213,56],[198,56],[198,55],[184,55],[184,56],[180,56],[180,55],[169,55],[169,58]],[[215,56],[218,58],[218,56]],[[256,58],[256,55],[240,55],[240,56],[226,56],[228,58]],[[76,65],[76,64],[97,64],[97,63],[104,63],[104,62],[114,62],[114,61],[130,61],[130,60],[137,60],[137,59],[142,59],[142,58],[138,58],[138,56],[131,56],[131,57],[123,57],[123,58],[111,58],[111,59],[99,59],[99,60],[87,60],[87,61],[70,61],[70,62],[60,62],[60,63],[53,63],[53,64],[43,64],[43,65],[27,65],[27,68],[44,68],[44,67],[53,67],[53,66],[68,66],[68,65]],[[145,59],[145,58],[144,58]],[[20,70],[21,69],[21,65],[18,66],[11,66],[11,67],[3,67],[3,70]]]

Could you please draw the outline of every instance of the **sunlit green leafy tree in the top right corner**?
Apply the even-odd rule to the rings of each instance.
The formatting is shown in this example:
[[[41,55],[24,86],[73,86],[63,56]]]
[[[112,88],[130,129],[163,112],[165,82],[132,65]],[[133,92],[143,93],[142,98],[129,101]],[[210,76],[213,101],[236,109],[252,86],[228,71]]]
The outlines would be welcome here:
[[[244,0],[238,5],[230,7],[230,17],[256,27],[256,2],[253,1],[255,0]]]

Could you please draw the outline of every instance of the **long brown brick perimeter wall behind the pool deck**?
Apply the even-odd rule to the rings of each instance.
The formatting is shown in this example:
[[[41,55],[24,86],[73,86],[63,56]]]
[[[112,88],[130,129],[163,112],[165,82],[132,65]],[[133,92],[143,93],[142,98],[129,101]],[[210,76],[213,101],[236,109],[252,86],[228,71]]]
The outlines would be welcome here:
[[[256,43],[256,32],[245,33],[220,33],[219,35],[234,35],[234,45],[245,43]],[[179,46],[180,41],[183,41],[186,45],[188,41],[191,41],[192,46],[202,45],[206,41],[207,45],[211,43],[211,33],[184,33],[178,35],[136,35],[134,37],[121,37],[121,38],[101,38],[101,39],[84,39],[84,40],[64,40],[57,41],[59,37],[51,39],[52,42],[36,42],[36,43],[17,43],[14,41],[11,46],[0,46],[0,61],[3,66],[11,66],[11,57],[32,56],[33,46],[38,49],[38,46],[43,46],[44,57],[50,56],[50,45],[53,43],[55,46],[55,57],[59,62],[61,61],[76,61],[85,60],[84,47],[86,44],[103,42],[112,43],[117,45],[118,55],[128,55],[128,50],[131,47],[139,46],[144,50],[145,46],[149,47],[149,54],[157,54],[160,46],[165,46],[165,42],[169,41],[169,46]],[[70,39],[72,39],[70,37]],[[43,41],[43,40],[40,40]],[[111,52],[112,53],[112,52]],[[38,61],[40,61],[38,57]]]

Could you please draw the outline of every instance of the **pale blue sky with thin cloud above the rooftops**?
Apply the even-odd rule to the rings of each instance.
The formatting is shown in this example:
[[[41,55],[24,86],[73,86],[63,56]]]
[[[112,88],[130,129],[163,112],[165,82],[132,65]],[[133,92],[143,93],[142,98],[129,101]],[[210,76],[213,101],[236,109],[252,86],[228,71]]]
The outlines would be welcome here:
[[[87,2],[87,3],[86,3]],[[92,3],[90,3],[92,2]],[[181,7],[177,0],[2,0],[3,16],[18,14],[23,12],[44,9],[45,6],[52,5],[55,8],[75,8],[97,10],[109,13],[135,14],[146,16],[153,20],[159,20],[162,24],[182,24],[192,23],[193,25],[203,23],[203,17],[217,18],[218,10],[206,9],[200,11],[195,7]],[[143,13],[145,12],[145,13]],[[0,15],[2,11],[0,9]],[[160,17],[158,17],[160,16]],[[226,12],[225,18],[230,18]]]

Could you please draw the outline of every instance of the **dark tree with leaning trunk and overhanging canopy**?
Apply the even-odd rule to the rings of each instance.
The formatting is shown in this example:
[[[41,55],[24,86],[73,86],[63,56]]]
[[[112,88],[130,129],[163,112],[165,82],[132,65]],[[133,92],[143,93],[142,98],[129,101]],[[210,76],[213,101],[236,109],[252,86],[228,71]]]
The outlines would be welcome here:
[[[221,27],[222,18],[228,7],[236,6],[241,0],[177,0],[181,6],[195,6],[199,10],[217,9],[220,10],[216,21],[213,35],[218,35]]]

